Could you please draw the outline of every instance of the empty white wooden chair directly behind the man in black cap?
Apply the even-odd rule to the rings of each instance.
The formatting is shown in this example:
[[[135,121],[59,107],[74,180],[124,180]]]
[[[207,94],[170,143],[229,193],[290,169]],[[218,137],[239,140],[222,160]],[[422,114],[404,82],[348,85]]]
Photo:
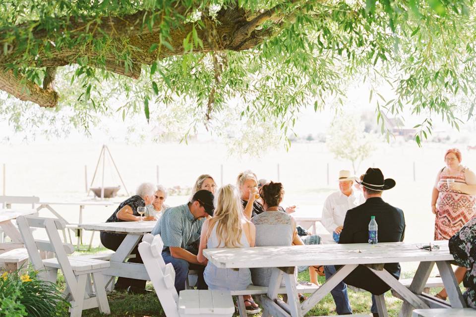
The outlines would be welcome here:
[[[139,253],[167,317],[233,316],[235,306],[230,292],[183,290],[178,294],[174,266],[165,264],[163,247],[160,235],[148,233],[139,244]]]

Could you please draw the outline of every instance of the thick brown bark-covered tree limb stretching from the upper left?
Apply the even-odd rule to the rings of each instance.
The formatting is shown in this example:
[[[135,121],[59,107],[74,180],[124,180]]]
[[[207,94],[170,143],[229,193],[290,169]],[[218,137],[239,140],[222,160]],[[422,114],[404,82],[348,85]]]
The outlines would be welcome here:
[[[209,41],[209,31],[207,29],[196,28],[198,37],[203,42],[202,47],[195,47],[194,53],[208,53],[212,51],[242,51],[254,48],[262,43],[264,38],[271,35],[271,30],[257,30],[268,20],[277,21],[280,10],[271,9],[263,12],[251,20],[247,20],[247,13],[238,7],[228,7],[221,9],[217,14],[217,27],[214,30],[214,41]],[[192,24],[181,24],[180,27],[170,30],[170,38],[167,41],[174,48],[173,51],[162,46],[153,52],[149,52],[152,44],[160,43],[160,30],[158,27],[142,27],[143,17],[150,17],[150,12],[140,11],[129,16],[104,17],[91,21],[76,21],[69,25],[70,30],[82,30],[89,23],[89,29],[93,29],[96,23],[101,30],[108,35],[109,42],[105,49],[98,51],[92,44],[65,48],[61,50],[50,50],[46,53],[44,47],[40,46],[37,56],[31,56],[32,67],[47,67],[43,89],[33,82],[25,81],[23,77],[16,77],[11,70],[0,71],[0,89],[20,100],[28,100],[40,106],[52,107],[58,103],[58,94],[54,91],[54,78],[56,67],[74,64],[78,58],[87,56],[86,64],[93,67],[104,68],[119,75],[128,76],[134,79],[139,78],[141,66],[150,65],[158,59],[173,55],[183,54],[183,39],[192,31]],[[207,17],[204,17],[207,19]],[[214,22],[215,23],[215,22]],[[210,23],[205,23],[209,25]],[[159,25],[159,24],[157,24]],[[5,30],[0,31],[0,39],[5,36]],[[77,32],[77,31],[75,31]],[[3,34],[2,34],[3,33]],[[34,30],[35,37],[48,37],[45,30]],[[72,36],[75,36],[74,32]],[[84,33],[83,33],[84,34]],[[94,36],[102,34],[94,32]],[[134,47],[131,50],[131,67],[126,71],[125,65],[118,62],[113,51],[121,52],[124,48]],[[24,52],[18,48],[14,42],[8,46],[8,53],[0,55],[0,69],[2,65],[14,63],[16,56]],[[101,59],[103,62],[98,62]]]

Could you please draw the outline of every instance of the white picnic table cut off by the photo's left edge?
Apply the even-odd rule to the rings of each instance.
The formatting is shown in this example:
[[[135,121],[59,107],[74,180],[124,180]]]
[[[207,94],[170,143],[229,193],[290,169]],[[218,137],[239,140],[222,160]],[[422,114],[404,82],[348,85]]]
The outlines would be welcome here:
[[[11,242],[0,243],[0,252],[23,248],[20,231],[15,227],[12,220],[18,216],[26,216],[36,212],[36,209],[0,209],[0,228],[11,239]]]

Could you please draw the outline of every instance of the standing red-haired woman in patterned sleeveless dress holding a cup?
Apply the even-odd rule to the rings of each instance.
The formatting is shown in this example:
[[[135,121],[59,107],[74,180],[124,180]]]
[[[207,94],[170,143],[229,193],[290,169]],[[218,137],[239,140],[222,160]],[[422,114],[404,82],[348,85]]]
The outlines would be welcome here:
[[[448,240],[465,223],[476,216],[476,175],[461,165],[461,152],[449,149],[445,153],[446,166],[436,177],[431,195],[431,211],[435,217],[435,240]],[[463,280],[466,268],[455,271],[458,282]],[[445,289],[436,294],[446,299]]]

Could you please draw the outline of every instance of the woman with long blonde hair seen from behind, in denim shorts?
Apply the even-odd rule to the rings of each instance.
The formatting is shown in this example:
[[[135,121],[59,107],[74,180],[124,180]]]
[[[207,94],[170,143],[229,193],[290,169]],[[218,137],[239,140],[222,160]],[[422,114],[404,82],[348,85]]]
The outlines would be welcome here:
[[[254,247],[255,235],[254,225],[243,216],[237,189],[230,184],[223,186],[213,217],[203,223],[197,259],[206,261],[203,250],[207,248]],[[218,268],[209,262],[203,276],[211,290],[244,290],[251,284],[249,268]],[[260,311],[251,296],[245,296],[244,302],[248,314]]]

